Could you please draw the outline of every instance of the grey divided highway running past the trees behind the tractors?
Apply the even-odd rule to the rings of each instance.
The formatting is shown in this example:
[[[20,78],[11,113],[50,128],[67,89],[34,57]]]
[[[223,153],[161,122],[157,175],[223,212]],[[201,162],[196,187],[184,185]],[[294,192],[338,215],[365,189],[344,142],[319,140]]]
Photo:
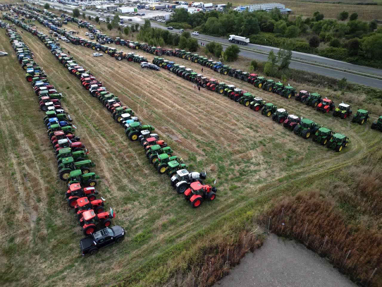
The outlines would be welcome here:
[[[40,0],[42,3],[49,3],[49,5],[52,5],[52,2],[48,2],[45,0]],[[66,10],[73,10],[74,8],[78,8],[72,5],[62,5],[58,3],[54,3],[55,7],[63,7]],[[95,11],[90,11],[86,10],[84,11],[87,15],[92,15],[92,16],[100,16],[98,15],[97,12]],[[81,11],[82,13],[82,11]],[[127,20],[127,18],[132,18],[133,21],[129,21],[129,23],[139,23],[143,24],[144,19],[138,18],[138,17],[129,17],[129,16],[121,16],[122,19]],[[126,21],[127,22],[127,21]],[[156,22],[151,22],[152,27],[157,27],[160,29],[167,29],[166,27],[156,23]],[[177,33],[176,31],[170,31],[172,33]],[[222,38],[217,38],[217,37],[212,37],[212,36],[207,36],[207,35],[202,35],[199,34],[195,38],[198,39],[198,41],[203,41],[203,42],[210,42],[210,41],[215,41],[219,42],[223,45],[223,50],[226,49],[231,43],[228,42],[228,39],[222,39]],[[268,59],[268,56],[266,54],[262,54],[262,52],[269,52],[271,49],[274,49],[275,53],[277,53],[278,48],[275,47],[269,47],[269,46],[260,46],[260,45],[255,45],[255,44],[248,44],[245,46],[238,45],[241,48],[241,51],[239,55],[248,57],[250,59],[256,59],[256,60],[261,60],[261,61],[266,61]],[[253,51],[252,49],[256,50],[261,50],[262,52],[256,52]],[[293,60],[295,58],[298,58],[299,60]],[[303,60],[304,62],[300,61]],[[315,65],[314,62],[319,62],[319,66]],[[322,67],[324,66],[324,67]],[[324,75],[328,77],[333,77],[337,79],[342,79],[343,77],[347,78],[349,82],[353,83],[358,83],[366,86],[371,86],[374,88],[379,88],[382,89],[382,80],[375,79],[368,77],[368,73],[372,73],[375,75],[379,75],[382,77],[382,70],[375,69],[375,68],[370,68],[370,67],[364,67],[364,66],[359,66],[359,65],[353,65],[350,63],[346,62],[341,62],[338,60],[333,60],[325,57],[320,57],[317,55],[312,55],[312,54],[306,54],[306,53],[301,53],[301,52],[295,52],[293,51],[292,53],[292,60],[290,63],[291,68],[295,68],[298,70],[303,71],[308,71],[308,72],[314,72],[319,75]],[[340,67],[340,70],[338,70],[338,67]],[[365,73],[365,75],[355,75],[350,72],[344,72],[344,70],[354,70],[357,72]]]

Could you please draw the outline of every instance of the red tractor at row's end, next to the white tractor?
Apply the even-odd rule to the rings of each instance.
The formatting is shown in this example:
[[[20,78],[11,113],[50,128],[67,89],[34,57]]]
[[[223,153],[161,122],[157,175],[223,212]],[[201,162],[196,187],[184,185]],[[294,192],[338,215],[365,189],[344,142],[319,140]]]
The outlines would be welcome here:
[[[186,189],[185,199],[194,208],[199,207],[203,201],[213,201],[216,197],[216,188],[209,184],[202,185],[199,181],[195,181],[190,184],[190,187]]]

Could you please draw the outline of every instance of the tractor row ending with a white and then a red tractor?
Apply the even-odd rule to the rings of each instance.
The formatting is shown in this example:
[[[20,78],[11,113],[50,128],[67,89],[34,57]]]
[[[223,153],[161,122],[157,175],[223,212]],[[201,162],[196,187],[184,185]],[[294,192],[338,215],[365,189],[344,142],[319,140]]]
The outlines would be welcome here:
[[[15,24],[35,34],[44,42],[60,63],[68,68],[68,71],[81,81],[82,86],[110,111],[115,122],[125,130],[126,136],[131,141],[141,143],[149,163],[159,174],[167,173],[171,176],[171,185],[178,194],[184,194],[185,199],[194,208],[199,207],[205,200],[215,199],[216,188],[202,183],[206,179],[206,173],[188,172],[187,166],[182,163],[182,158],[173,155],[172,148],[168,147],[164,140],[160,140],[159,135],[152,133],[155,130],[154,127],[143,125],[134,112],[121,103],[118,96],[110,93],[92,73],[79,66],[73,57],[65,54],[59,46],[50,41],[49,36],[17,20]]]

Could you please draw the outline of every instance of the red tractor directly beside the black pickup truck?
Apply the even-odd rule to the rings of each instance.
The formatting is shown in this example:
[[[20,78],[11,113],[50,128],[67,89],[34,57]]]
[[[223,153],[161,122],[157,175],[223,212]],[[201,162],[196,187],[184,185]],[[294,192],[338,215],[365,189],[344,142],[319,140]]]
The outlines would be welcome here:
[[[78,220],[79,225],[82,227],[84,235],[89,235],[97,230],[97,225],[108,227],[112,224],[111,218],[115,218],[115,212],[110,208],[110,213],[101,212],[96,214],[94,210],[86,210],[81,214]]]

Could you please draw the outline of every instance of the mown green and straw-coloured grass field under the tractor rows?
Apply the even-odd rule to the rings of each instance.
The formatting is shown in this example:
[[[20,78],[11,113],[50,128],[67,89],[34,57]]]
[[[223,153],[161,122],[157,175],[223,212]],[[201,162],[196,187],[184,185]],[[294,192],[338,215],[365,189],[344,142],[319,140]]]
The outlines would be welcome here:
[[[74,25],[70,29],[77,30]],[[334,153],[226,97],[194,90],[192,83],[167,70],[142,70],[139,64],[119,62],[108,55],[94,58],[93,50],[62,43],[142,122],[152,124],[189,169],[206,168],[208,181],[217,180],[217,200],[193,210],[170,187],[169,178],[159,176],[147,163],[141,146],[126,138],[110,113],[58,64],[44,44],[26,31],[21,35],[49,81],[63,92],[65,109],[97,164],[94,171],[101,175],[97,189],[117,212],[114,222],[127,230],[127,236],[121,245],[94,257],[79,254],[81,231],[64,200],[65,183],[57,178],[42,115],[35,108],[36,96],[8,39],[0,33],[0,50],[10,54],[0,59],[1,190],[11,195],[5,197],[0,215],[6,222],[0,230],[9,235],[0,240],[5,258],[0,263],[1,285],[175,285],[176,280],[189,279],[208,246],[222,240],[235,242],[242,230],[256,226],[253,218],[281,195],[282,186],[336,173],[382,143],[380,133],[366,125],[333,119],[229,78],[230,83],[290,113],[346,134],[348,148]],[[176,62],[201,68],[187,60],[177,58]],[[203,74],[226,80],[209,69]],[[317,154],[323,156],[317,158]],[[294,193],[292,188],[282,195]]]

